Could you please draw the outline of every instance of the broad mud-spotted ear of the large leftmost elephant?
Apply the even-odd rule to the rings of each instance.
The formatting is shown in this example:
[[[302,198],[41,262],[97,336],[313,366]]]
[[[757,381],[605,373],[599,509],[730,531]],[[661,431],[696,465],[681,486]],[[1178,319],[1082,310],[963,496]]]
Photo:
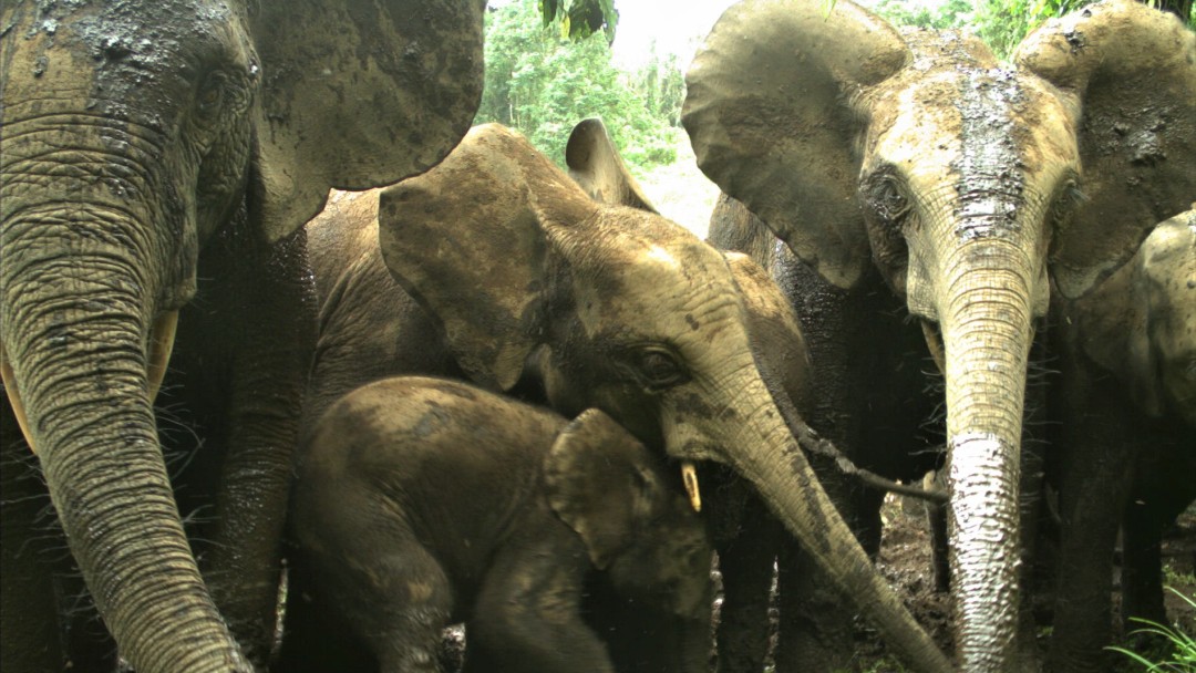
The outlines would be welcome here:
[[[482,94],[484,0],[249,2],[261,59],[255,213],[274,240],[329,188],[434,166]]]

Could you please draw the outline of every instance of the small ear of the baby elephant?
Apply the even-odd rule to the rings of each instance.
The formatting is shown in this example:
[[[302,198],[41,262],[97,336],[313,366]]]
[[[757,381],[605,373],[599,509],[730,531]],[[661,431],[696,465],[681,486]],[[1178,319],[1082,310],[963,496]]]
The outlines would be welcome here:
[[[544,484],[549,506],[581,537],[599,570],[666,497],[648,449],[597,409],[582,411],[557,435],[544,459]]]

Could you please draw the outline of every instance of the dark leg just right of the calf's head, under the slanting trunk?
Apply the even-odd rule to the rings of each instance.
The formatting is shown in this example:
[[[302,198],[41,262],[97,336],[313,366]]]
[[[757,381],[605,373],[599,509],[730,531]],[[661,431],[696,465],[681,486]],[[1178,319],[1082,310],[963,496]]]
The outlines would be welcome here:
[[[785,531],[757,497],[745,502],[739,534],[719,545],[722,607],[719,611],[720,673],[759,672],[769,649],[769,593],[777,542]]]

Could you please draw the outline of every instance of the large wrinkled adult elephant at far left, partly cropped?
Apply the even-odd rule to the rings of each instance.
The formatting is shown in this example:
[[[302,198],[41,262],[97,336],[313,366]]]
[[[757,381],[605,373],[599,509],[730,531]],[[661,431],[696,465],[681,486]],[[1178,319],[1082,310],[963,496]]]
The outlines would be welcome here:
[[[36,452],[71,552],[138,671],[263,661],[315,328],[305,240],[292,232],[329,186],[395,182],[459,140],[480,97],[482,7],[5,4],[5,463],[24,470],[20,454]],[[196,536],[207,583],[152,408],[164,375],[170,424],[182,416],[199,435],[196,463],[220,484],[179,496],[215,501]],[[4,668],[60,668],[55,629],[26,611],[50,595],[10,600],[49,580],[28,512],[42,506],[39,478],[7,472]]]

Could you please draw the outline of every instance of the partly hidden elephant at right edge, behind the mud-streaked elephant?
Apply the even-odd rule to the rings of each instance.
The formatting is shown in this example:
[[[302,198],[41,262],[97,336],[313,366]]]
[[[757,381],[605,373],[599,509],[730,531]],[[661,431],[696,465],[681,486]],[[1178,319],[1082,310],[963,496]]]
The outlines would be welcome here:
[[[1159,540],[1196,497],[1196,210],[1051,311],[1062,526],[1048,666],[1104,671],[1118,521],[1122,616],[1165,624]]]

